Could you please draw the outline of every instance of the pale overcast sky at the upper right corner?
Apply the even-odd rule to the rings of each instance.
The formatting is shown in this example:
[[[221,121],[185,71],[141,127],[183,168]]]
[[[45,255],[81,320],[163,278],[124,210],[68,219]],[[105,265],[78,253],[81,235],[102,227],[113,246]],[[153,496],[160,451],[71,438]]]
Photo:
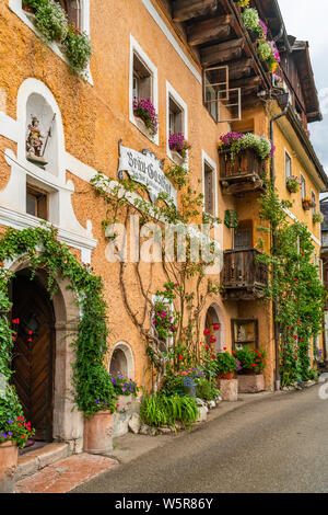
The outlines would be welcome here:
[[[309,124],[311,140],[328,174],[328,0],[279,0],[288,34],[307,41],[324,121]]]

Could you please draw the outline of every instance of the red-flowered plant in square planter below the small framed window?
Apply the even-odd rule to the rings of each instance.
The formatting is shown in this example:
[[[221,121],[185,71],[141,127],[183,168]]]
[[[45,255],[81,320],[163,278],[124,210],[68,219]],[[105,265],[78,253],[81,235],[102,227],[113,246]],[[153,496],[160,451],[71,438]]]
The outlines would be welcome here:
[[[241,363],[238,370],[238,392],[257,393],[265,390],[263,369],[267,366],[266,351],[257,348],[242,348],[234,351],[233,355]]]

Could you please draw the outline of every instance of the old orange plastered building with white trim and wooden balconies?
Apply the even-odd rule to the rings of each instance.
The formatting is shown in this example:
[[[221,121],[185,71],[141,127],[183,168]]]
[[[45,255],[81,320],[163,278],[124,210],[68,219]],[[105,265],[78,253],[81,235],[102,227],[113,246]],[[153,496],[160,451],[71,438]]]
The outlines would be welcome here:
[[[0,4],[1,234],[9,227],[34,228],[43,220],[58,229],[59,241],[104,282],[107,369],[149,388],[145,344],[126,309],[119,263],[108,260],[102,225],[106,205],[90,182],[98,171],[117,181],[119,171],[136,171],[138,162],[152,163],[162,178],[162,160],[164,168],[184,161],[169,145],[172,134],[181,134],[191,146],[186,162],[192,186],[203,193],[203,210],[222,221],[227,211],[236,213],[239,220],[238,228],[222,222],[216,230],[224,264],[213,279],[225,289],[203,307],[201,334],[209,329],[215,335],[215,351],[245,344],[265,348],[266,388],[273,388],[278,376],[272,306],[258,302],[268,282],[256,262],[261,170],[246,156],[244,168],[232,172],[220,159],[218,145],[230,131],[273,140],[274,160],[271,167],[267,163],[267,172],[273,174],[281,197],[294,201],[288,216],[307,226],[314,259],[319,260],[320,227],[312,216],[316,209],[305,210],[302,202],[309,196],[318,204],[319,193],[328,187],[307,135],[307,124],[321,119],[308,44],[288,35],[277,0],[251,2],[281,56],[274,75],[261,60],[233,0],[57,3],[91,39],[93,54],[83,78],[72,70],[62,43],[43,43],[33,9],[22,0]],[[159,121],[155,134],[136,115],[133,98],[151,100]],[[149,152],[142,153],[144,149]],[[302,183],[297,194],[286,188],[291,175]],[[159,191],[171,192],[179,205],[179,195],[165,179],[159,184]],[[265,250],[269,248],[265,238]],[[71,412],[67,397],[74,362],[71,325],[81,314],[77,299],[61,277],[50,299],[46,271],[28,281],[28,260],[4,266],[15,273],[10,290],[13,317],[35,332],[39,347],[30,368],[14,364],[21,396],[24,385],[32,388],[39,408],[31,416],[35,424],[40,421],[43,438],[78,442],[77,450],[83,416]],[[161,266],[152,277],[147,264],[140,272],[154,297],[165,283]],[[138,312],[142,304],[132,264],[126,274],[130,305]]]

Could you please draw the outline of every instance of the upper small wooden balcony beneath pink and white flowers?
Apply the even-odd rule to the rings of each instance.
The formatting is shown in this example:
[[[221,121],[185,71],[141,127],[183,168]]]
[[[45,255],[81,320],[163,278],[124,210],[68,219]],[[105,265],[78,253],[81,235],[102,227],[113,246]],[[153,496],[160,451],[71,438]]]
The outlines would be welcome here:
[[[223,151],[220,157],[220,183],[227,195],[263,191],[266,161],[259,159],[253,149],[246,149],[231,161],[230,153]]]

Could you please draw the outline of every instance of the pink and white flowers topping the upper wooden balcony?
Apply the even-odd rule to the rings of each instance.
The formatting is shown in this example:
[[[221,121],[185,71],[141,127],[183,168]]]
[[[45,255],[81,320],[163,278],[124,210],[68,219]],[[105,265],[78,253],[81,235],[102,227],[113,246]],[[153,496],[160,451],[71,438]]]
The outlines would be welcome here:
[[[234,161],[239,152],[248,148],[251,148],[262,161],[272,157],[274,151],[269,139],[251,133],[227,133],[221,136],[220,140],[219,151],[229,151],[231,161]]]

